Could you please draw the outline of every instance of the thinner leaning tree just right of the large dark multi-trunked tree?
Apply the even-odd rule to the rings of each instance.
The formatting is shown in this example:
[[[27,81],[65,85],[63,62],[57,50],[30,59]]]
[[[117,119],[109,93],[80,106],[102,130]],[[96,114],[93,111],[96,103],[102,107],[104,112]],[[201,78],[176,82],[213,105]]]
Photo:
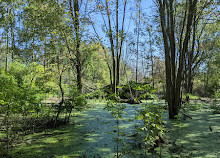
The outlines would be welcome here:
[[[202,47],[202,41],[205,39],[204,34],[208,25],[213,25],[215,15],[215,3],[210,1],[200,1],[197,5],[193,22],[192,22],[192,34],[189,41],[189,48],[185,54],[185,70],[184,70],[184,88],[186,93],[192,94],[193,91],[193,77],[196,74],[201,63],[208,57],[208,53],[204,51]],[[217,16],[218,17],[218,16]],[[187,101],[189,96],[187,96]]]

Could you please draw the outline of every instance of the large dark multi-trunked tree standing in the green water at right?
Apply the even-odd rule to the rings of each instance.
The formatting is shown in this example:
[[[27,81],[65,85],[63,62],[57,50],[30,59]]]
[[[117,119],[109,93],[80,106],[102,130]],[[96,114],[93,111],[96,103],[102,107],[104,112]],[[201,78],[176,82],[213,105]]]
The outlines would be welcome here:
[[[176,23],[174,0],[157,0],[160,25],[163,35],[166,66],[166,100],[169,107],[169,118],[178,115],[181,106],[181,84],[183,81],[184,57],[188,51],[192,32],[193,17],[196,13],[197,0],[186,0],[185,13],[182,20],[181,34],[177,49],[175,34]]]

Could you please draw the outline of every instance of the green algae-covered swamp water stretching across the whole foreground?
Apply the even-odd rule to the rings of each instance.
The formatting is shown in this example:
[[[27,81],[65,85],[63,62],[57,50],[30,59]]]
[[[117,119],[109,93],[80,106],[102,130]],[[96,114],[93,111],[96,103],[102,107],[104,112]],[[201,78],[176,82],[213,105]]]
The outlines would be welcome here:
[[[158,104],[164,104],[159,102]],[[23,144],[11,150],[19,158],[113,158],[116,157],[116,119],[104,109],[104,103],[93,103],[88,109],[75,112],[68,126],[24,137]],[[141,105],[126,104],[120,125],[121,157],[159,157],[159,148],[145,153],[140,139],[135,136],[141,122],[132,120]],[[213,114],[209,106],[186,111],[192,117],[170,121],[167,113],[166,141],[162,157],[220,157],[220,114]],[[210,130],[211,129],[211,130]]]

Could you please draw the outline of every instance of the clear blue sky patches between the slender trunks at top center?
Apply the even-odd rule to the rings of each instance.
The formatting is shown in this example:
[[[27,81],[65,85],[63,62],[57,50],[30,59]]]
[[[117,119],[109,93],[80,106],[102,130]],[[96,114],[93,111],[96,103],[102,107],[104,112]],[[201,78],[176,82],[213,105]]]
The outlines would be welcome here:
[[[123,19],[123,4],[124,4],[124,1],[120,1],[119,0],[119,29],[121,29],[121,24],[122,24],[122,19]],[[132,3],[133,2],[133,3]],[[134,3],[135,0],[128,0],[128,3],[127,3],[127,9],[126,9],[126,18],[125,18],[125,33],[133,33],[133,35],[135,34],[134,33],[134,29],[136,28],[136,24],[135,24],[135,18],[134,19],[131,19],[131,16],[132,17],[136,17],[136,15],[138,14],[138,8],[136,7],[136,4]],[[103,2],[103,4],[105,4]],[[90,7],[94,7],[94,6],[90,6]],[[110,8],[113,8],[115,9],[115,4],[112,5]],[[132,8],[132,9],[131,9]],[[141,12],[145,14],[145,17],[147,18],[146,22],[147,23],[152,23],[152,20],[153,20],[153,16],[156,14],[156,6],[153,2],[153,0],[142,0],[141,2]],[[104,15],[104,19],[108,25],[108,21],[107,21],[107,15],[106,15],[106,11],[103,11],[103,15]],[[113,12],[114,14],[114,12]],[[107,47],[110,47],[110,42],[109,42],[109,39],[108,37],[106,37],[106,33],[104,33],[102,31],[102,27],[103,27],[103,18],[102,18],[102,15],[100,14],[100,12],[94,12],[91,14],[91,18],[92,18],[92,21],[94,22],[94,25],[95,25],[95,28],[96,28],[96,31],[98,32],[99,34],[99,37],[102,38],[102,43],[107,46]],[[112,18],[112,27],[115,26],[116,22],[116,16],[115,15],[112,15],[111,16]],[[138,18],[137,18],[138,19]],[[153,24],[152,24],[153,25]],[[147,24],[143,24],[142,23],[142,27],[143,29],[147,27]],[[95,36],[95,33],[93,31],[93,28],[91,28],[91,26],[88,26],[88,30],[91,34],[94,34]],[[134,39],[131,39],[133,40],[135,43],[137,41],[137,36],[133,36]],[[140,36],[140,41],[145,43],[144,47],[139,47],[139,54],[142,53],[142,55],[149,55],[149,44],[146,42],[146,41],[149,41],[148,39],[148,35],[145,35],[145,36]],[[126,56],[125,52],[126,52],[126,45],[128,43],[124,42],[124,47],[123,47],[123,54],[124,54],[124,58],[126,59],[130,59],[130,60],[127,60],[129,61],[129,64],[135,66],[135,60],[136,60],[136,51],[131,51],[130,54],[129,54],[129,57]],[[136,49],[136,46],[134,46],[134,48]],[[156,50],[156,48],[155,48]],[[154,52],[155,54],[158,54],[156,51]],[[140,65],[139,67],[141,67],[141,61],[142,61],[142,57],[139,55],[140,57]]]

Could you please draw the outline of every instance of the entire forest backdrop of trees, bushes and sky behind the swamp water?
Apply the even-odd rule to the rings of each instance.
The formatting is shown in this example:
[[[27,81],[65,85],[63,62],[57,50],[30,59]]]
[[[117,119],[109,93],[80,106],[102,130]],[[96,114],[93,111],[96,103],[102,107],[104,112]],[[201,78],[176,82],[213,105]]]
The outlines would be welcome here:
[[[110,94],[166,98],[170,118],[183,100],[220,97],[219,1],[1,0],[0,14],[7,133],[15,115],[56,125]]]

